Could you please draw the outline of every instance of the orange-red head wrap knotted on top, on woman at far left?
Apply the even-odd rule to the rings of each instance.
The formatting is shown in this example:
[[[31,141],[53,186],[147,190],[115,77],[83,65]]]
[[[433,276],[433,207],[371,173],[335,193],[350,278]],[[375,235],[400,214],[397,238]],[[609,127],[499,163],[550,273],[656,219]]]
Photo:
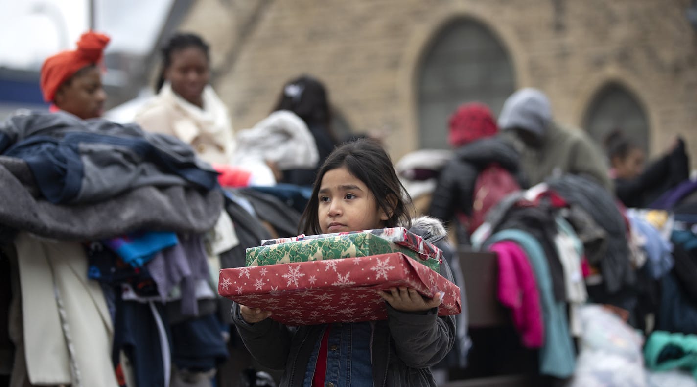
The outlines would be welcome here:
[[[77,70],[93,63],[100,63],[107,44],[109,44],[109,36],[89,31],[80,37],[77,50],[63,51],[49,56],[41,66],[41,92],[44,100],[53,102],[58,88],[77,73]]]

